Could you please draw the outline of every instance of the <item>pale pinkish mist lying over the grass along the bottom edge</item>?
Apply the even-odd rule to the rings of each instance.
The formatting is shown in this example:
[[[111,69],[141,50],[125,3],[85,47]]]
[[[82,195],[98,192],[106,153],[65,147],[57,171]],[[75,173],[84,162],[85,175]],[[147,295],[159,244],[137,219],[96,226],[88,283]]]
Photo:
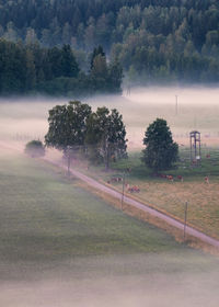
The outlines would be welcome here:
[[[218,262],[204,263],[195,252],[184,257],[76,258],[41,275],[33,272],[30,281],[4,281],[1,306],[218,307]]]

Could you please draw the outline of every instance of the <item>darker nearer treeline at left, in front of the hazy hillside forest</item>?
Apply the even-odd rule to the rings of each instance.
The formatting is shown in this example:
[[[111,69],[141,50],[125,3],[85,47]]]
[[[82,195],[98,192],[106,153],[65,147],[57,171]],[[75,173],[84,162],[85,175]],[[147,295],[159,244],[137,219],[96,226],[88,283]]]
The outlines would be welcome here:
[[[84,95],[118,93],[123,69],[106,62],[102,47],[90,55],[90,69],[80,69],[70,45],[43,48],[0,39],[0,94],[46,93]]]

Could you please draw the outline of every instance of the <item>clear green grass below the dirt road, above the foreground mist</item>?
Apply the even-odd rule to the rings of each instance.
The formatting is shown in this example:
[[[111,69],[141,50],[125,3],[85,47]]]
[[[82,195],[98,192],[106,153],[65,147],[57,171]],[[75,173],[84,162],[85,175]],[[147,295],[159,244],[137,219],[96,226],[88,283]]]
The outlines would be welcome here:
[[[125,216],[46,163],[0,157],[1,260],[182,249],[165,232]]]

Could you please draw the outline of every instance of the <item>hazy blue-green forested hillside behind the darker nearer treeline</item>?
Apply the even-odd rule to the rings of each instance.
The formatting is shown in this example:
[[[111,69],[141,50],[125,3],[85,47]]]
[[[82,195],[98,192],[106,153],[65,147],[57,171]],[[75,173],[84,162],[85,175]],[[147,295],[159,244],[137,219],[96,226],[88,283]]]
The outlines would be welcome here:
[[[127,81],[219,81],[217,0],[0,0],[0,37],[70,45],[84,71],[102,45]]]

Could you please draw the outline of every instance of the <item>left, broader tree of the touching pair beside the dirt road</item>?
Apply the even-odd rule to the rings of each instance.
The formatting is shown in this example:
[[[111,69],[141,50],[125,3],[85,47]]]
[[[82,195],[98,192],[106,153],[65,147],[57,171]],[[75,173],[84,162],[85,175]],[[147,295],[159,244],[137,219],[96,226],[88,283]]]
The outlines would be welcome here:
[[[70,101],[68,105],[56,105],[49,110],[46,146],[66,151],[69,147],[78,149],[84,145],[87,118],[91,107],[80,101]]]

